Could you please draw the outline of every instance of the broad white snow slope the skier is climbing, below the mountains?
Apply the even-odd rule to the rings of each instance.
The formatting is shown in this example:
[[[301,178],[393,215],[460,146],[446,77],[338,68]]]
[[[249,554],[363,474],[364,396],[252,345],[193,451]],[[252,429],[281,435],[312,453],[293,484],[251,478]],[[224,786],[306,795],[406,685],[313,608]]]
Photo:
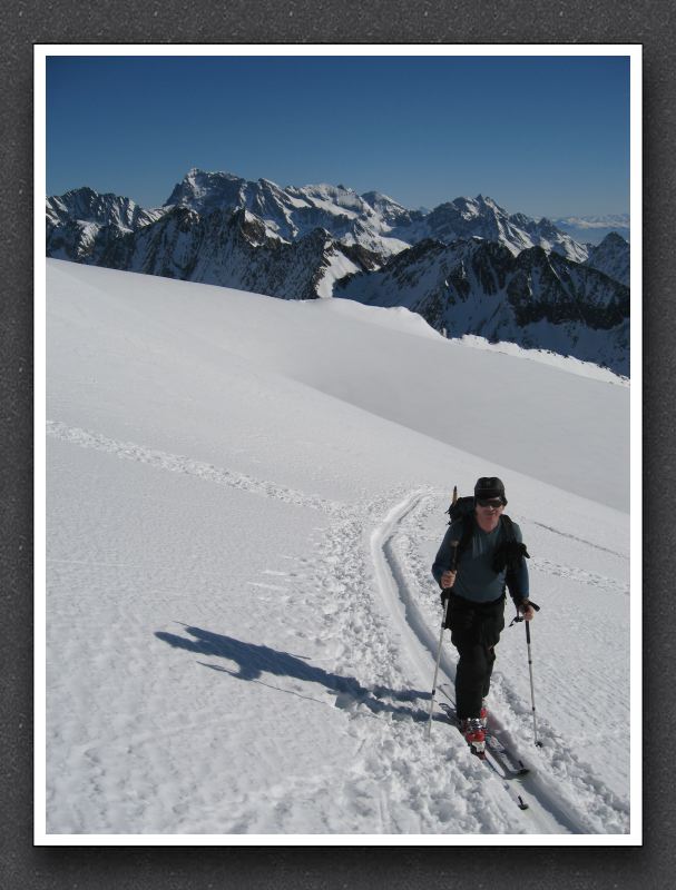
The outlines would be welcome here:
[[[628,386],[404,310],[58,260],[47,358],[43,842],[636,830]],[[487,474],[541,606],[541,749],[521,625],[491,691],[526,812],[441,709],[423,731],[443,511]]]

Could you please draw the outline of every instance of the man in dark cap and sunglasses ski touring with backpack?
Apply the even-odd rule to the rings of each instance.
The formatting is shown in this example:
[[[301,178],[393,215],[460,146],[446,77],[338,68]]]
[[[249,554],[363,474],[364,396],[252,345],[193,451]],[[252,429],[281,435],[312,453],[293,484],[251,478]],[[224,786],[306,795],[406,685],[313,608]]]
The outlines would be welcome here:
[[[469,498],[468,498],[469,500]],[[471,508],[471,500],[469,500]],[[535,617],[528,601],[528,556],[521,530],[504,516],[504,485],[482,476],[474,486],[473,511],[449,526],[432,574],[448,600],[445,626],[459,653],[455,709],[472,752],[486,749],[486,696],[504,627],[504,591],[526,621]],[[457,554],[453,543],[457,544]]]

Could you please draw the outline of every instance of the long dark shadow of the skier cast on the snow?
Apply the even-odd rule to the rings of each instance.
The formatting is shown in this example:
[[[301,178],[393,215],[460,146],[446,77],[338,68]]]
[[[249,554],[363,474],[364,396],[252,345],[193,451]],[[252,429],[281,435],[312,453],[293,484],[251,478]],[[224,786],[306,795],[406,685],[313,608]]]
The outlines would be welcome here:
[[[420,699],[429,701],[430,693],[420,690],[394,690],[388,686],[363,686],[359,680],[352,676],[330,673],[322,668],[311,664],[302,655],[292,655],[288,652],[281,652],[270,646],[256,643],[244,643],[232,636],[224,636],[219,633],[205,631],[202,627],[189,627],[183,625],[185,632],[190,635],[178,636],[177,634],[157,631],[155,636],[165,643],[177,649],[185,649],[187,652],[195,652],[200,655],[210,655],[217,659],[226,659],[235,662],[237,670],[233,671],[219,664],[204,664],[215,671],[223,671],[237,680],[259,681],[263,674],[274,676],[290,676],[296,680],[320,683],[330,692],[336,695],[336,705],[350,708],[355,704],[364,704],[371,711],[390,712],[406,716],[412,720],[423,721],[428,719],[424,709],[415,708],[414,702]],[[291,690],[282,690],[291,691]],[[297,693],[294,693],[297,694]],[[410,703],[406,706],[404,703]]]

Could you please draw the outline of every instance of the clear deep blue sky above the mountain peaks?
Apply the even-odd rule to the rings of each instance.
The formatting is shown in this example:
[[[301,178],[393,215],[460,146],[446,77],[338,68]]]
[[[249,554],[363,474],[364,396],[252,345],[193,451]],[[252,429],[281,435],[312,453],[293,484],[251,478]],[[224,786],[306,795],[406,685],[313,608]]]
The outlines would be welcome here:
[[[478,194],[529,216],[629,210],[627,57],[50,57],[47,191],[161,205],[190,167]]]

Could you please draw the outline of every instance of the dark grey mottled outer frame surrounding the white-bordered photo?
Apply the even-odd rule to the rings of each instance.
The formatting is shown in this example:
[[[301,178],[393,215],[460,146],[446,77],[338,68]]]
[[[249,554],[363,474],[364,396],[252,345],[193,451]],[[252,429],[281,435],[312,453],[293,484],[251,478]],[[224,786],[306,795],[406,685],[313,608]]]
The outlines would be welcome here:
[[[0,12],[2,716],[0,883],[14,888],[668,886],[674,751],[675,16],[668,0],[133,0]],[[641,43],[644,47],[644,846],[35,848],[32,846],[32,44]],[[592,87],[591,87],[592,88]],[[635,236],[636,237],[636,236]],[[590,690],[592,695],[592,690]]]

